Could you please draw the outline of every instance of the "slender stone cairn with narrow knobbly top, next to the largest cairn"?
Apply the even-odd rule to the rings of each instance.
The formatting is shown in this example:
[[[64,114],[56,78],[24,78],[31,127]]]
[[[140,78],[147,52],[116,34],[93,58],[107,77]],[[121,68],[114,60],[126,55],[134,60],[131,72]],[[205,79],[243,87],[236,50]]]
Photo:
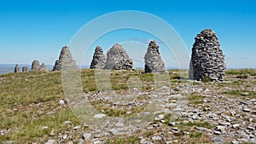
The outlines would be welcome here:
[[[151,41],[148,44],[148,51],[144,56],[144,61],[146,73],[166,72],[166,65],[160,56],[159,46],[155,41]]]

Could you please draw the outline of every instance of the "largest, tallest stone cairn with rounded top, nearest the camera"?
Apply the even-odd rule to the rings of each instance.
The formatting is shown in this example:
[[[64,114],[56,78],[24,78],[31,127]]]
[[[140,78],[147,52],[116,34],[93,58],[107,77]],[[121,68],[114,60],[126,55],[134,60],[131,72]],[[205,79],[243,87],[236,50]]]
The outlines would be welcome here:
[[[202,31],[195,37],[189,65],[189,78],[203,80],[224,80],[226,66],[218,37],[211,29]]]

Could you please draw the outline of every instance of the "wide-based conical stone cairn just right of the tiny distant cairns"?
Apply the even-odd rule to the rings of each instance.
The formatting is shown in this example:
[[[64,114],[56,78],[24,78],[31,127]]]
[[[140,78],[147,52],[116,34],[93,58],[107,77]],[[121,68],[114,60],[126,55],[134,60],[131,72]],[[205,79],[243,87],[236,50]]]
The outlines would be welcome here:
[[[53,71],[75,70],[77,68],[78,66],[76,65],[76,61],[73,60],[70,50],[67,46],[64,46],[61,49],[61,55],[59,57],[59,60],[55,61]]]

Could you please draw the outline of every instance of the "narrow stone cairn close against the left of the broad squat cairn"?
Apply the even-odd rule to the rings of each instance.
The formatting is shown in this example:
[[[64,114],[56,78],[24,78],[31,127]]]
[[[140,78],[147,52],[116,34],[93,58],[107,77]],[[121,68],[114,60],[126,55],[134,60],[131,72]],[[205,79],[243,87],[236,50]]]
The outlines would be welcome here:
[[[104,68],[106,63],[106,56],[103,54],[101,47],[97,46],[90,63],[90,68]]]

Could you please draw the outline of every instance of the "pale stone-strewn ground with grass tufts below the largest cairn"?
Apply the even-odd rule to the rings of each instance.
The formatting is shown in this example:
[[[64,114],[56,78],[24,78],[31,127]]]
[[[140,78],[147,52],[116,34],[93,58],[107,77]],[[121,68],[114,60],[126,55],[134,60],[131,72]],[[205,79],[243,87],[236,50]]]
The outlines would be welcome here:
[[[49,131],[45,142],[256,143],[255,79],[254,75],[230,72],[224,82],[172,78],[169,86],[161,85],[157,90],[129,88],[128,95],[124,89],[116,90],[114,95],[104,90],[85,92],[80,105],[61,99],[45,114],[62,108],[74,110],[86,101],[97,111],[88,118],[91,121],[83,121],[74,110],[80,122],[61,122],[67,127],[65,130],[42,127]],[[140,115],[146,116],[145,121]],[[132,116],[137,118],[129,119]],[[9,130],[1,130],[2,136],[8,134]],[[17,143],[3,141],[12,142]]]

